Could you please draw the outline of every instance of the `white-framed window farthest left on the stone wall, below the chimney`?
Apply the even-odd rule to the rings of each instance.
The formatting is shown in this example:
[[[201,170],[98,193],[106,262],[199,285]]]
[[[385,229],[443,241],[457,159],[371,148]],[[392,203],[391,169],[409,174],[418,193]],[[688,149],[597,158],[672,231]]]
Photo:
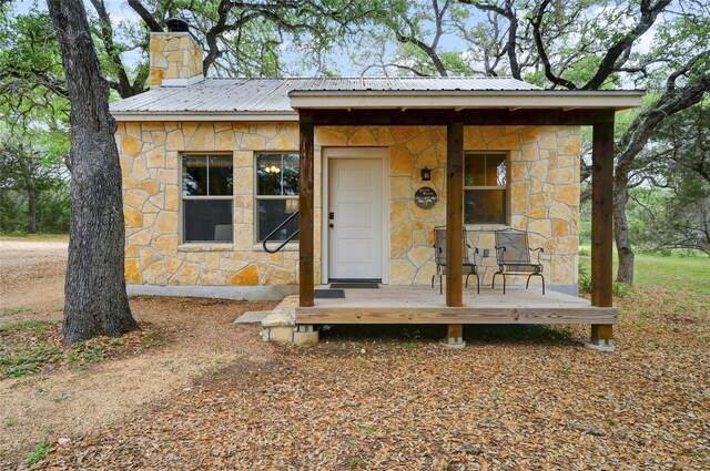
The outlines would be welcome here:
[[[232,155],[182,156],[183,242],[232,242]]]

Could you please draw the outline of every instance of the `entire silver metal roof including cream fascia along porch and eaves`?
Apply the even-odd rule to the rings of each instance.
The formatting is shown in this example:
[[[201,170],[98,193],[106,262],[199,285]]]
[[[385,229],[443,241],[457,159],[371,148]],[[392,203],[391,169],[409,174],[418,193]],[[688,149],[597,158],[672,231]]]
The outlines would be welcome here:
[[[639,91],[542,90],[510,78],[204,79],[111,105],[119,121],[297,121],[296,109],[604,107],[641,104]]]

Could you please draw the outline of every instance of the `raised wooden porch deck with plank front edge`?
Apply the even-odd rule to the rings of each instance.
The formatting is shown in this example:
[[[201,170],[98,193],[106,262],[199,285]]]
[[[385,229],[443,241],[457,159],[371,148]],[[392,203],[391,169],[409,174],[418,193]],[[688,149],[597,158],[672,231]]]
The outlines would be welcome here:
[[[327,289],[327,286],[320,287]],[[576,296],[538,286],[464,290],[463,307],[447,307],[446,295],[425,286],[345,289],[345,298],[315,299],[296,307],[296,324],[617,324],[616,307],[595,307]]]

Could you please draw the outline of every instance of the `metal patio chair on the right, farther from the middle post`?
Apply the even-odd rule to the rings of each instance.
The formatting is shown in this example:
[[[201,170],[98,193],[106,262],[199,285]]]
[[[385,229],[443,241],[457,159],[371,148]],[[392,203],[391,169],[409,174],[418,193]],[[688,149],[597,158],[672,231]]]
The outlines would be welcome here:
[[[542,294],[545,294],[545,277],[542,276],[542,264],[540,255],[542,247],[530,248],[528,245],[528,233],[525,231],[505,229],[496,231],[496,262],[498,272],[493,275],[493,288],[496,287],[496,276],[503,275],[503,294],[506,294],[506,275],[528,275],[525,284],[527,289],[530,278],[539,276],[542,278]],[[537,253],[537,262],[530,259],[530,254]]]

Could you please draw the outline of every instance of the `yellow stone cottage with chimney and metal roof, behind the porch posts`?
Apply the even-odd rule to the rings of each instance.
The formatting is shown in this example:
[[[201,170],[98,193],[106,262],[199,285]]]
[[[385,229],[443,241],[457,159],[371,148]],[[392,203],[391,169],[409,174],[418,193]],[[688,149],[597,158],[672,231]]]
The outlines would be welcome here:
[[[640,103],[508,78],[207,79],[186,32],[153,33],[150,59],[151,90],[111,107],[125,279],[144,294],[281,299],[338,279],[424,289],[434,228],[458,224],[481,285],[497,270],[494,232],[514,227],[544,248],[548,289],[576,295],[579,125]],[[452,120],[463,137],[453,196]]]

